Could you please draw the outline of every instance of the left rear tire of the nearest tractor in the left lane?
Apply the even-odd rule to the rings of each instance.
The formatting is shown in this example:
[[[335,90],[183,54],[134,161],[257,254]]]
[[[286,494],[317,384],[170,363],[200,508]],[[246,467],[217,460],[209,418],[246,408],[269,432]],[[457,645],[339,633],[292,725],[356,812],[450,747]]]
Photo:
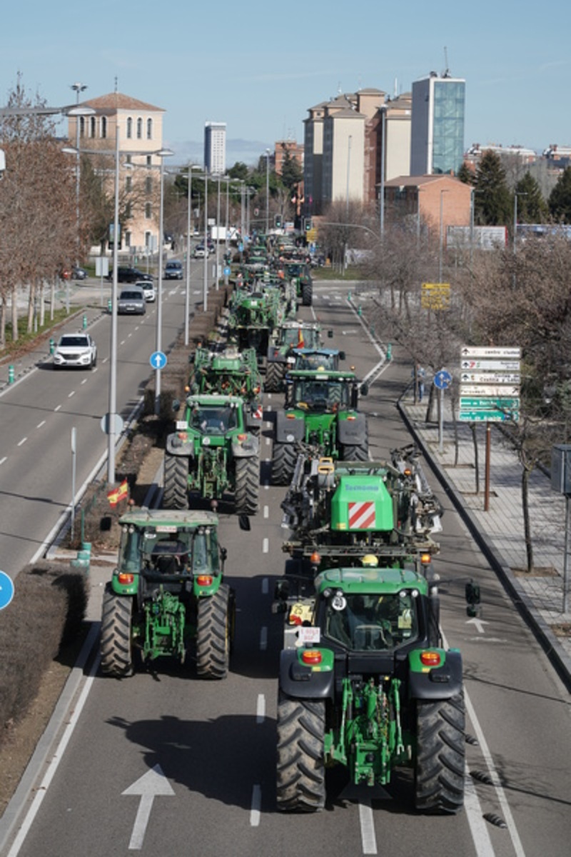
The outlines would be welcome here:
[[[101,614],[101,672],[117,679],[134,672],[132,613],[133,597],[116,595],[107,584]]]

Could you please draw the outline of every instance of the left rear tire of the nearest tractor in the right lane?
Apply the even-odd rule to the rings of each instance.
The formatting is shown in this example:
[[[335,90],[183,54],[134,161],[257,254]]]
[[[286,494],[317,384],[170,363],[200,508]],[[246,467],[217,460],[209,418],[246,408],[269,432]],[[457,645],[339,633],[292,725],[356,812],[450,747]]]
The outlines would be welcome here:
[[[325,806],[325,703],[277,700],[277,808],[316,812]]]

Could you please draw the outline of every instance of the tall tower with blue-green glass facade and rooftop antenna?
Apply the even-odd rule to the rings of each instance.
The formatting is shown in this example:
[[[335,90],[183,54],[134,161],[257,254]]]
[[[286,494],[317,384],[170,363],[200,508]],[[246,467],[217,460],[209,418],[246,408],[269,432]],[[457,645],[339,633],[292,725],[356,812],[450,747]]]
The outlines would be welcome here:
[[[464,158],[466,81],[436,72],[413,83],[411,176],[456,175]]]

